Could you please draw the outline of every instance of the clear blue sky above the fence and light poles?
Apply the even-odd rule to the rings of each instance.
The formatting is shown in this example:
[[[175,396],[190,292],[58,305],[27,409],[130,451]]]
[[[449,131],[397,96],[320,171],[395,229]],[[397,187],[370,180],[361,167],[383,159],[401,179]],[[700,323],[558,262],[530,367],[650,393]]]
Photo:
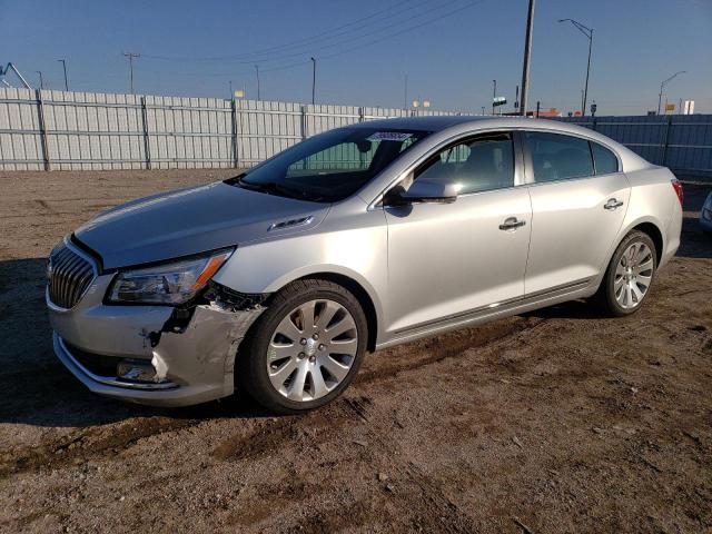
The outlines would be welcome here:
[[[481,112],[514,101],[528,0],[0,0],[0,62],[34,87],[229,98],[230,82],[263,100]],[[593,28],[589,103],[597,115],[695,100],[712,112],[712,0],[536,0],[530,109],[581,108]],[[19,87],[12,76],[8,81]],[[511,103],[504,110],[512,110]]]

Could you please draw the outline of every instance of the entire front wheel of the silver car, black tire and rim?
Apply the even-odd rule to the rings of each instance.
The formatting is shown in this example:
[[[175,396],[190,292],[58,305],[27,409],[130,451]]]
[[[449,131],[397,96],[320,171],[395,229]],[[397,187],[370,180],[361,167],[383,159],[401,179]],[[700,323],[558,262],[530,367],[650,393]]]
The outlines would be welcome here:
[[[354,379],[367,339],[366,316],[348,290],[327,280],[294,281],[240,345],[237,387],[278,414],[317,408]]]

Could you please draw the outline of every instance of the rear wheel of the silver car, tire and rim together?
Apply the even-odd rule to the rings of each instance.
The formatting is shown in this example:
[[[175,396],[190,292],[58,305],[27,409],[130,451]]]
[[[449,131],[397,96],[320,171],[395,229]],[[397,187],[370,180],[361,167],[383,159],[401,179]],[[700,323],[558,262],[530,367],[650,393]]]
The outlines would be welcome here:
[[[596,294],[602,310],[623,317],[640,309],[657,269],[655,244],[645,233],[633,230],[621,241]]]

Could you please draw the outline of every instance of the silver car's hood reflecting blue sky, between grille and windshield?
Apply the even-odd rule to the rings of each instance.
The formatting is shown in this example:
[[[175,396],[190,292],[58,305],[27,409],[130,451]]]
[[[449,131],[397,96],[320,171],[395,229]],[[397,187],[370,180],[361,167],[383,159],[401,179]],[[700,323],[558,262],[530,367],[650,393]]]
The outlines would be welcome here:
[[[306,231],[327,211],[327,205],[218,181],[118,206],[81,226],[75,237],[112,269]],[[309,224],[269,230],[273,224],[305,217],[312,217]]]

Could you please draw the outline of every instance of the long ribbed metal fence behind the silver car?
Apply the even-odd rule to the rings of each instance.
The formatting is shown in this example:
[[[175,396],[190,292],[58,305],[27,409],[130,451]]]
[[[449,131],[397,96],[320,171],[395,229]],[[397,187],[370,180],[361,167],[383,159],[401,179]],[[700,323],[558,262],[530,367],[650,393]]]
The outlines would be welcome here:
[[[0,170],[251,167],[326,130],[431,109],[0,89]],[[712,172],[712,116],[570,120],[674,170]],[[367,155],[343,155],[362,165]],[[315,165],[318,161],[315,160]]]

